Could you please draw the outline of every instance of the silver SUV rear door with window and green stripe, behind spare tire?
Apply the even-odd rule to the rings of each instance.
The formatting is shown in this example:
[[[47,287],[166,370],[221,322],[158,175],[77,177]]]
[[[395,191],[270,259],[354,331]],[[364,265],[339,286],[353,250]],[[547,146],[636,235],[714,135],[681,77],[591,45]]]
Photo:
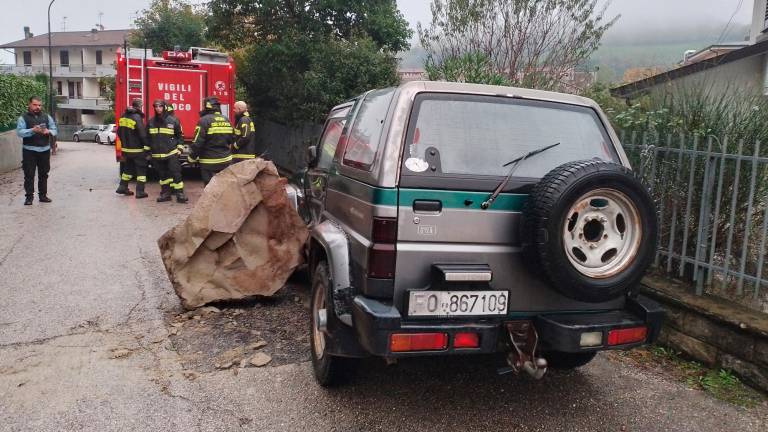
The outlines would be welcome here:
[[[506,176],[505,163],[557,142],[524,161],[504,193],[481,209]],[[409,290],[433,284],[435,264],[490,267],[490,288],[510,292],[510,315],[618,305],[568,299],[522,260],[519,225],[530,188],[562,163],[593,157],[618,161],[589,107],[489,95],[417,95],[399,183],[395,304],[401,314],[408,312]]]

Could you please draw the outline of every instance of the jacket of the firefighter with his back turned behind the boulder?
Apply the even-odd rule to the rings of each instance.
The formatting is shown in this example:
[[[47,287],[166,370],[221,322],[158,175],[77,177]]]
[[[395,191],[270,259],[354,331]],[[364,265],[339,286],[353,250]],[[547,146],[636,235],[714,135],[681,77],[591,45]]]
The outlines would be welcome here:
[[[218,111],[204,111],[195,128],[195,139],[190,146],[190,159],[203,165],[229,163],[229,147],[234,131],[229,120]]]

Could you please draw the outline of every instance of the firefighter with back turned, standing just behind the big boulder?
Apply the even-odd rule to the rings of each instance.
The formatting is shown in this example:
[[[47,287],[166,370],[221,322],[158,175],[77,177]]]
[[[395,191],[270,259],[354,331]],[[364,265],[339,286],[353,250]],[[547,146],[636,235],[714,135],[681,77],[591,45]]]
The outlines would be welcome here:
[[[208,184],[216,173],[224,170],[232,161],[230,146],[234,131],[232,124],[221,114],[221,105],[216,96],[205,98],[200,121],[195,128],[195,139],[189,149],[192,162],[200,163],[200,176]]]

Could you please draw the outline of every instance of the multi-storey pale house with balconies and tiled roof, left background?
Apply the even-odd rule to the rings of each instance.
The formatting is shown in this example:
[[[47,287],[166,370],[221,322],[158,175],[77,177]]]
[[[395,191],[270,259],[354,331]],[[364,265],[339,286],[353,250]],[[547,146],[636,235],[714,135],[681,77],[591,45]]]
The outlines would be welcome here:
[[[100,79],[115,76],[115,53],[129,30],[51,33],[53,91],[56,120],[61,124],[101,124],[111,110]],[[16,62],[0,65],[0,73],[48,75],[48,34],[34,36],[24,27],[24,39],[0,45],[13,50]]]

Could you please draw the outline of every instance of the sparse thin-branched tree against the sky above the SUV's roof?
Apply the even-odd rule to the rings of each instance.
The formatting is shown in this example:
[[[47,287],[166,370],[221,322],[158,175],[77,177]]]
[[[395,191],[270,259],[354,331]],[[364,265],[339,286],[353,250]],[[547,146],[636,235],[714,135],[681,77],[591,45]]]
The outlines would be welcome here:
[[[482,55],[512,84],[559,89],[599,47],[606,21],[598,0],[432,0],[429,28],[418,25],[427,70]],[[443,74],[445,75],[445,74]]]

